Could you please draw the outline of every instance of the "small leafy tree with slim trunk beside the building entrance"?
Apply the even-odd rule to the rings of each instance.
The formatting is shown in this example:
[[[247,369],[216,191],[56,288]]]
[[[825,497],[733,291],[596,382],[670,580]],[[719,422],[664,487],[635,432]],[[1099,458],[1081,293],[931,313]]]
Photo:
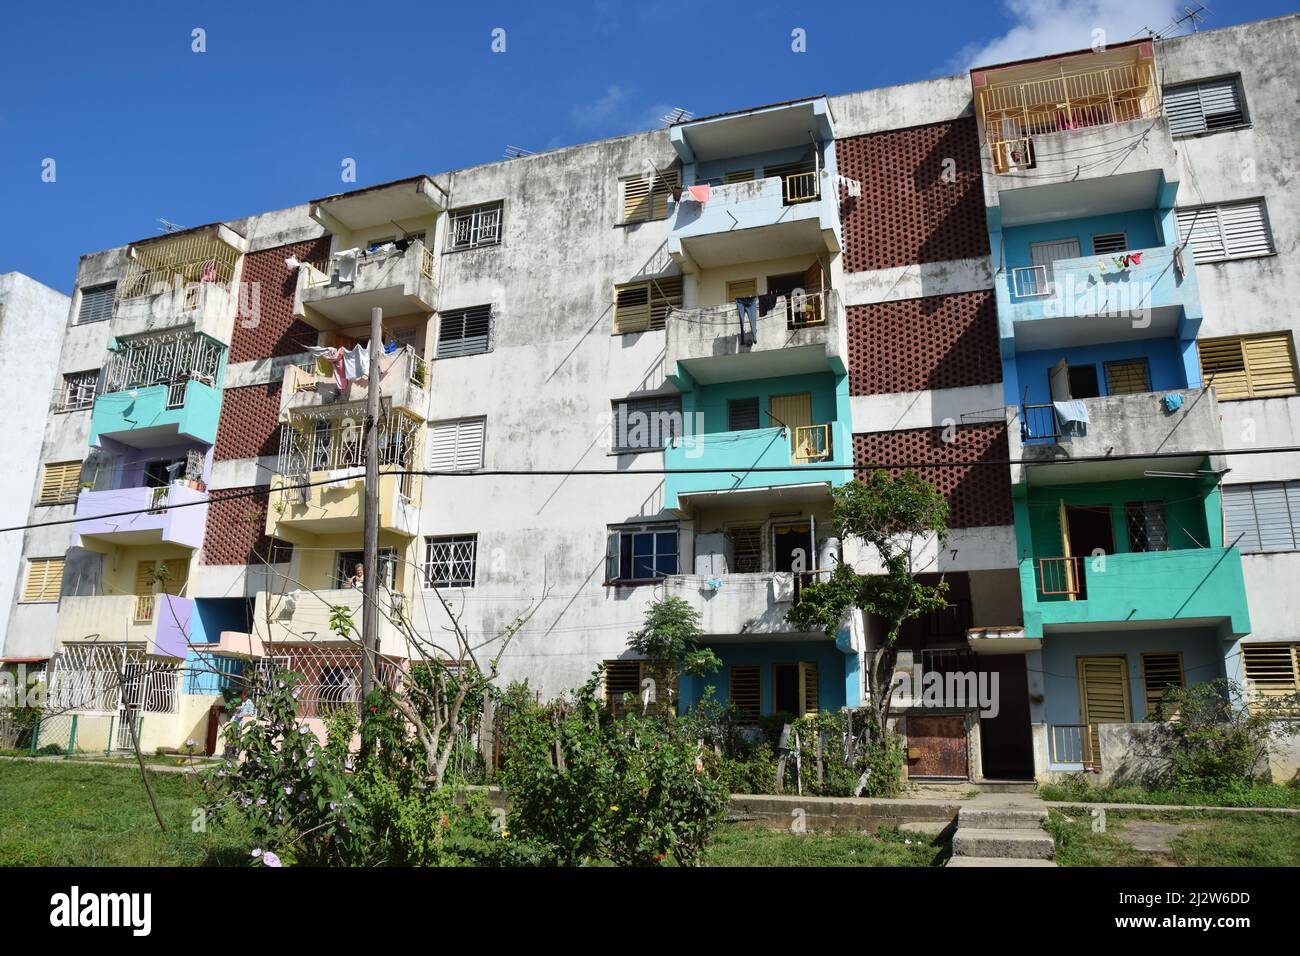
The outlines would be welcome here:
[[[803,631],[824,631],[831,637],[852,610],[875,615],[884,623],[884,639],[867,665],[868,706],[875,718],[867,728],[868,737],[884,740],[898,635],[909,620],[948,605],[946,581],[916,580],[928,567],[928,562],[920,562],[920,548],[930,538],[937,538],[940,546],[948,540],[948,502],[919,475],[906,471],[890,476],[883,468],[833,489],[832,494],[833,524],[841,540],[858,541],[864,557],[875,557],[881,570],[861,575],[841,562],[828,580],[803,588],[786,619]]]

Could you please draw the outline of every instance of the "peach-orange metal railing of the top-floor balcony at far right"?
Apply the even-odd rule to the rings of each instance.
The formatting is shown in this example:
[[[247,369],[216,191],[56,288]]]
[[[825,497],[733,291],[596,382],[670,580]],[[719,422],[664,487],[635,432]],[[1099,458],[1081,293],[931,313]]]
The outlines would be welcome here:
[[[993,172],[1035,165],[1034,138],[1161,114],[1154,64],[1145,61],[979,91]]]

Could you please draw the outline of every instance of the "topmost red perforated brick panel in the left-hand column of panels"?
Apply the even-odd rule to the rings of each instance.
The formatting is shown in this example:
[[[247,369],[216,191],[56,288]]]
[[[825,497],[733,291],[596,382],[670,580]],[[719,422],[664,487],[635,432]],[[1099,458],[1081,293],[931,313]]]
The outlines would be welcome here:
[[[329,258],[329,237],[250,252],[243,263],[239,315],[230,341],[231,362],[294,355],[316,343],[316,329],[294,319],[298,273],[285,259],[317,261]]]

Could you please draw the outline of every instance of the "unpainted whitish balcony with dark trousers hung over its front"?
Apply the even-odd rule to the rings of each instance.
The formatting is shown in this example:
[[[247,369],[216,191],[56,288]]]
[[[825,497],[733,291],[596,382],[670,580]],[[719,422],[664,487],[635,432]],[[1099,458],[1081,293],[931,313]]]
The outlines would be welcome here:
[[[844,307],[832,289],[780,297],[758,316],[753,345],[741,339],[734,303],[675,308],[666,326],[664,367],[682,390],[693,382],[826,371],[842,375],[848,367]]]

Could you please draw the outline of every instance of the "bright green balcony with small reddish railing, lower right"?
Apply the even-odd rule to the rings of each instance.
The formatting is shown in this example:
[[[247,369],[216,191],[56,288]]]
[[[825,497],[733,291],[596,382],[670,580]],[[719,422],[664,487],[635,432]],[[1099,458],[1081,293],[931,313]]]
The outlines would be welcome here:
[[[1027,637],[1052,631],[1216,626],[1223,637],[1251,631],[1242,554],[1196,548],[1020,561]],[[1101,570],[1104,568],[1104,570]]]

